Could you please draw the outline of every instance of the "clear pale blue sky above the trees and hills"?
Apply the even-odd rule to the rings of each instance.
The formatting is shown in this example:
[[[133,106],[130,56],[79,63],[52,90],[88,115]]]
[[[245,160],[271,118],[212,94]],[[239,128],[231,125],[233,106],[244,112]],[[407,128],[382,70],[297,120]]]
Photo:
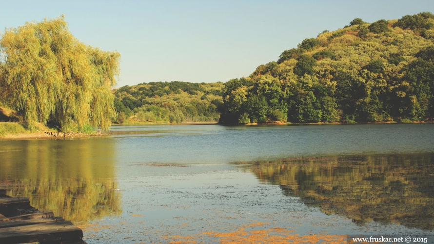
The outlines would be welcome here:
[[[66,16],[80,41],[121,54],[118,87],[226,82],[355,18],[433,12],[433,0],[0,0],[0,32]]]

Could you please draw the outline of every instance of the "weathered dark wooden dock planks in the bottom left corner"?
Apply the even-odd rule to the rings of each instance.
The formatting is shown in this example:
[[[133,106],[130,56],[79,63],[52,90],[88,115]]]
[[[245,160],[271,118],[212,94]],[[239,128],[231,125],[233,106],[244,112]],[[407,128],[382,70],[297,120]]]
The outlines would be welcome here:
[[[53,212],[40,212],[29,198],[13,198],[0,189],[0,243],[86,244],[79,227]]]

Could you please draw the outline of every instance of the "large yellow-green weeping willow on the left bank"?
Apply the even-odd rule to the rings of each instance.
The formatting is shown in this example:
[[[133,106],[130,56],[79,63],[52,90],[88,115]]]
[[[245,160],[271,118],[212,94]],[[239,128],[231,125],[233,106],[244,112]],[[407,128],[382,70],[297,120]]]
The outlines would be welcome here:
[[[119,59],[118,52],[77,40],[64,16],[7,28],[0,40],[0,100],[30,128],[54,122],[62,130],[108,129]]]

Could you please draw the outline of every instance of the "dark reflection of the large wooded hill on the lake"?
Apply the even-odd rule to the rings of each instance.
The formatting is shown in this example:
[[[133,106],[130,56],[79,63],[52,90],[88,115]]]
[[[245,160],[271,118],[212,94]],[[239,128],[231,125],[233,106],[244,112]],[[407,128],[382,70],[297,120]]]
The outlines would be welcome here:
[[[326,214],[434,229],[434,154],[302,158],[252,162],[263,182],[279,184]]]

